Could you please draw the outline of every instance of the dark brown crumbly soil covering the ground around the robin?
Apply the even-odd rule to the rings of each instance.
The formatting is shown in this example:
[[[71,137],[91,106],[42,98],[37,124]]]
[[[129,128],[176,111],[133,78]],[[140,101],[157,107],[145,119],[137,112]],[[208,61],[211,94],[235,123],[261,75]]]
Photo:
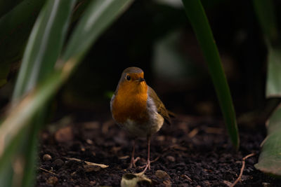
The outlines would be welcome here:
[[[178,116],[173,125],[164,125],[152,137],[151,159],[159,159],[145,175],[155,186],[229,186],[240,174],[242,158],[256,153],[247,158],[237,186],[281,186],[280,179],[254,167],[266,131],[240,131],[240,151],[235,151],[221,121]],[[145,139],[138,139],[136,156],[142,158],[138,166],[145,164],[146,145]],[[46,130],[41,134],[37,186],[119,186],[123,174],[141,172],[139,168],[127,169],[131,148],[131,138],[110,118],[74,123],[54,134]],[[89,169],[83,161],[67,158],[109,167]],[[164,171],[164,177],[157,175],[157,170]]]

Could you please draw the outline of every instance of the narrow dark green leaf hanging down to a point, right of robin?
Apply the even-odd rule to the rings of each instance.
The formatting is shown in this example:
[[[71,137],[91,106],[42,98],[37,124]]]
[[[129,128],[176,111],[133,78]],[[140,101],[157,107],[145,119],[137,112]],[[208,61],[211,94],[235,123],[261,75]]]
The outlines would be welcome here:
[[[218,55],[216,43],[214,42],[209,22],[204,13],[204,8],[202,7],[200,0],[183,0],[183,5],[192,28],[195,31],[205,60],[207,61],[207,66],[216,89],[216,95],[221,106],[228,134],[230,135],[230,139],[235,148],[239,148],[239,135],[233,101]]]

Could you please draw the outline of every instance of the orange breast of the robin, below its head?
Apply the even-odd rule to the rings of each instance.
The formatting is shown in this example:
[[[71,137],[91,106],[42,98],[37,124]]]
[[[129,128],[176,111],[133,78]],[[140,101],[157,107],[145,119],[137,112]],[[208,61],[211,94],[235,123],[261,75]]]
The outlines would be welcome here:
[[[145,82],[121,83],[112,102],[112,116],[120,124],[128,119],[145,123],[148,120],[147,100],[148,86]]]

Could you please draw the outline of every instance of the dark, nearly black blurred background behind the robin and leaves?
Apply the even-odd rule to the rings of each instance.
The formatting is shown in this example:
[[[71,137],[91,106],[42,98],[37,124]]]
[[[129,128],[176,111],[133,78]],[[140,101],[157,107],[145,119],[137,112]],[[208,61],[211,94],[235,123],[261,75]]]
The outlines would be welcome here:
[[[204,57],[181,1],[172,2],[176,5],[134,1],[92,46],[55,98],[53,111],[63,115],[80,113],[89,118],[91,113],[109,113],[110,96],[122,71],[136,66],[143,69],[148,85],[169,110],[221,116]],[[267,50],[252,1],[204,0],[202,4],[221,55],[237,116],[262,109],[266,102]],[[275,1],[276,10],[280,6],[280,1]],[[15,77],[1,90],[2,106],[11,95],[13,80]]]

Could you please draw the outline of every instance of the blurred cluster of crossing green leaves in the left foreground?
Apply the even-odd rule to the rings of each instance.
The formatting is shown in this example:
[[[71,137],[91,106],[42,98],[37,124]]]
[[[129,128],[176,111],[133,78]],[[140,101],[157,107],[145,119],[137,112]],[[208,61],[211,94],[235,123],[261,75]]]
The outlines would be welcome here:
[[[91,2],[59,59],[74,3],[47,1],[28,39],[11,109],[0,126],[0,182],[6,186],[34,186],[38,132],[45,122],[48,101],[91,43],[131,1]]]

